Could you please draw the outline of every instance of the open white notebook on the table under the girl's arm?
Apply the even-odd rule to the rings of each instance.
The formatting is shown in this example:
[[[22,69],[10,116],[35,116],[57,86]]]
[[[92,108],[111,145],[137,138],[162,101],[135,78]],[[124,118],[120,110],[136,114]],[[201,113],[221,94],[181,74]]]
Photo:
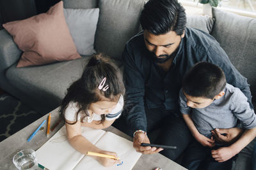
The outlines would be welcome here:
[[[83,136],[102,150],[116,152],[118,157],[124,162],[121,166],[104,167],[97,160],[88,155],[77,152],[67,141],[65,125],[41,148],[36,150],[36,159],[39,164],[48,169],[132,169],[141,153],[136,152],[132,142],[101,129],[91,129],[83,127]]]

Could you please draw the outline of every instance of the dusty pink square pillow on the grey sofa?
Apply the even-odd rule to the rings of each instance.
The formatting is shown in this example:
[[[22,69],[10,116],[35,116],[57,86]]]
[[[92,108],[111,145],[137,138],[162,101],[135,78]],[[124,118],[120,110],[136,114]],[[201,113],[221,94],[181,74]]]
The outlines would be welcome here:
[[[24,52],[17,67],[81,58],[65,21],[63,1],[47,13],[8,22],[3,27]]]

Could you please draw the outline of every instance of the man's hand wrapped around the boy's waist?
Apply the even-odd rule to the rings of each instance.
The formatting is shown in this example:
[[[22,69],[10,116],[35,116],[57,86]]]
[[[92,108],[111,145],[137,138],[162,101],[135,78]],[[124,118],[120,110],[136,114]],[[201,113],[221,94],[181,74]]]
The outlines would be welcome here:
[[[232,144],[243,134],[244,130],[238,127],[230,129],[214,129],[211,131],[215,141],[222,144]]]

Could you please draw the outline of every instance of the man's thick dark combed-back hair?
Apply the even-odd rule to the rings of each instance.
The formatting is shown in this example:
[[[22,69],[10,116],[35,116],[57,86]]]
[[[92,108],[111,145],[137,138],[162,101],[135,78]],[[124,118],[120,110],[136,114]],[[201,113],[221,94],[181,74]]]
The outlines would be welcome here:
[[[177,0],[149,0],[141,11],[143,30],[155,35],[175,31],[182,35],[186,28],[186,13]]]

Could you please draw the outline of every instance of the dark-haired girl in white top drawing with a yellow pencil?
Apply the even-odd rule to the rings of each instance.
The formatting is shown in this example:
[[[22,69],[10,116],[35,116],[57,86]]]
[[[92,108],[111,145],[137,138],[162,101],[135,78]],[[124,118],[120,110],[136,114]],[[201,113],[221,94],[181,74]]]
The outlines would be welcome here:
[[[118,67],[102,54],[93,55],[79,80],[67,89],[61,107],[70,145],[86,154],[88,151],[114,155],[100,150],[81,135],[81,127],[104,129],[120,117],[124,106],[124,83]],[[120,160],[94,157],[103,166],[113,166]]]

